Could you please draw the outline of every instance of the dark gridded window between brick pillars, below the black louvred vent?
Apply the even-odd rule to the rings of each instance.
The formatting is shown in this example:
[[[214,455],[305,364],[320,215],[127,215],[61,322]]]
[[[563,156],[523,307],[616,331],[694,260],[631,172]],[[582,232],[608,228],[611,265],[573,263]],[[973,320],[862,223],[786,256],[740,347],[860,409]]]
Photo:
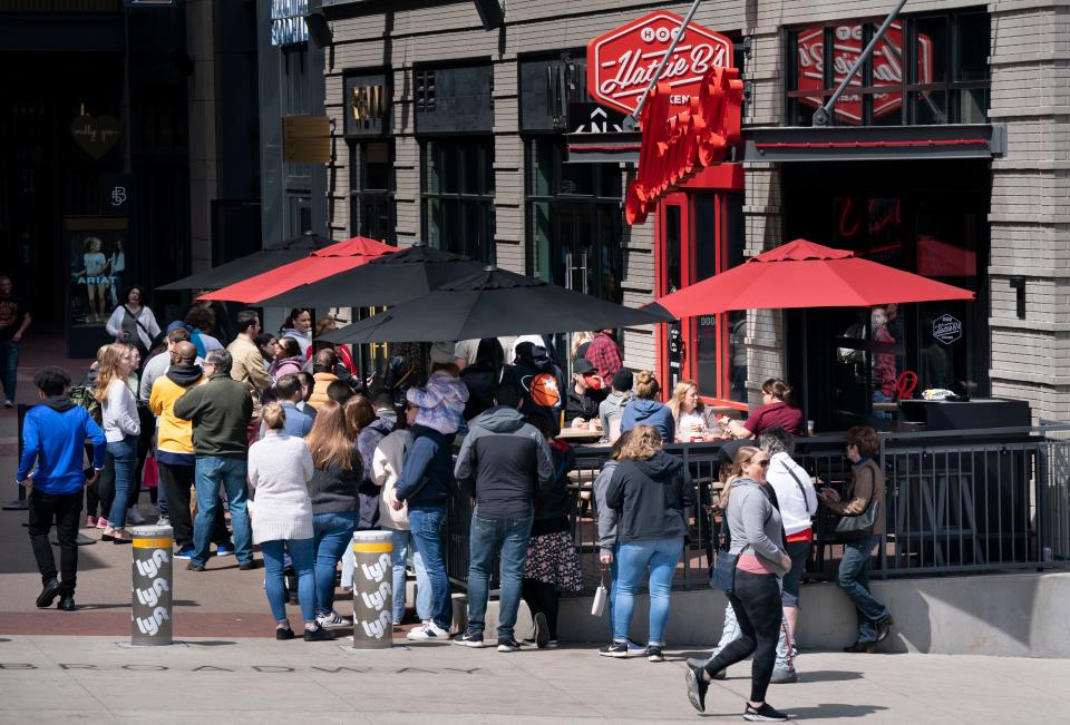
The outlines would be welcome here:
[[[494,263],[494,140],[426,140],[420,147],[424,237]]]

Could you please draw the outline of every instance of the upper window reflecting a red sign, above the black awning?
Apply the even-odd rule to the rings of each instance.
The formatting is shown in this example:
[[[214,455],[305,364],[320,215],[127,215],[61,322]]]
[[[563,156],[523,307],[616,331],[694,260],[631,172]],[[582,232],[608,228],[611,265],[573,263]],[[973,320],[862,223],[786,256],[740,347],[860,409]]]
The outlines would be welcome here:
[[[788,35],[788,124],[810,126],[873,39],[877,22],[840,21]],[[836,101],[842,126],[980,124],[989,107],[989,16],[901,17]]]

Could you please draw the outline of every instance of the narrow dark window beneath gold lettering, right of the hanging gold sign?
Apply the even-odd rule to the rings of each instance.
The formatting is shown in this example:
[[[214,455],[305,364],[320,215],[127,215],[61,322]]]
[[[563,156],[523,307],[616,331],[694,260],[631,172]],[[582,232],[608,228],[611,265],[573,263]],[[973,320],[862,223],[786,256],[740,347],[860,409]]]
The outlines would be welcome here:
[[[397,244],[393,141],[350,143],[350,233]]]

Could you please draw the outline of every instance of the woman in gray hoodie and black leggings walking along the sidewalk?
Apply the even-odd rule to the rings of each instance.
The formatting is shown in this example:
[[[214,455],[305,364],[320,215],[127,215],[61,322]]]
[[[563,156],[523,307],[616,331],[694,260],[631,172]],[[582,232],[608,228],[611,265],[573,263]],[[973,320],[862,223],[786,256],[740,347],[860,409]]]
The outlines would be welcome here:
[[[784,610],[778,579],[791,568],[784,550],[784,527],[780,512],[761,487],[766,486],[769,454],[749,445],[736,453],[731,496],[724,509],[731,535],[730,553],[737,555],[735,582],[728,601],[739,620],[739,639],[716,657],[698,667],[688,664],[688,697],[700,713],[706,712],[706,690],[716,674],[751,655],[750,700],[743,719],[780,722],[788,719],[766,703],[766,689],[777,659],[777,638]]]

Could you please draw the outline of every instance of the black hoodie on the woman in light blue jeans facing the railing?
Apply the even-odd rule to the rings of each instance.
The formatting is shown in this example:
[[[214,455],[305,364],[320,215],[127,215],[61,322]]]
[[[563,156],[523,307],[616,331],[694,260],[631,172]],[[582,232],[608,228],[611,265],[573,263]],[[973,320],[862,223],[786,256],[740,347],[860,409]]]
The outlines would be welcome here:
[[[621,460],[605,502],[621,512],[621,541],[675,539],[688,533],[684,509],[694,504],[694,487],[681,460],[658,451],[643,461]]]

